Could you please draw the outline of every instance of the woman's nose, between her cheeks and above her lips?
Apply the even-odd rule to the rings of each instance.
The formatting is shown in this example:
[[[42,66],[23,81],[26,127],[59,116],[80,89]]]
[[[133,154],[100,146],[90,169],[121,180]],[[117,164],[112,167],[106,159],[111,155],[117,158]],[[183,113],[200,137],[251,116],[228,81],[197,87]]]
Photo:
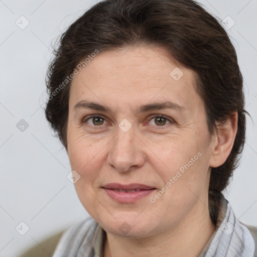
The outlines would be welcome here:
[[[145,163],[144,144],[138,137],[135,135],[133,127],[127,132],[118,128],[116,136],[110,142],[108,165],[119,172],[142,167]]]

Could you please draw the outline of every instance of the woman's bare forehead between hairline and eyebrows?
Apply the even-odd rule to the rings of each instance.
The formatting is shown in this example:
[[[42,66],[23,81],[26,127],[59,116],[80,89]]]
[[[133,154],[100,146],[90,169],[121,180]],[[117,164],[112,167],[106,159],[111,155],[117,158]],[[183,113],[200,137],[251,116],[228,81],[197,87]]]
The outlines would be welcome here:
[[[86,98],[124,107],[172,99],[189,108],[187,104],[199,98],[194,81],[194,72],[164,49],[128,47],[92,58],[73,78],[70,101],[75,104]]]

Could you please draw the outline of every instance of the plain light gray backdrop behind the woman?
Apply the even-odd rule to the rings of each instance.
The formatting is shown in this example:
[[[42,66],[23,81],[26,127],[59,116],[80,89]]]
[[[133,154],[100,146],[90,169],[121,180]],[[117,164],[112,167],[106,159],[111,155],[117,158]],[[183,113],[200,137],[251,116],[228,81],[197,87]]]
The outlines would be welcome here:
[[[68,157],[42,107],[53,39],[97,2],[0,0],[0,256],[17,256],[88,215],[66,177],[71,171]],[[230,16],[235,21],[227,32],[238,54],[253,121],[247,118],[247,142],[225,196],[240,221],[257,225],[257,1],[199,2],[221,20]],[[16,25],[17,20],[25,24],[21,16],[30,23],[24,30]],[[24,132],[16,126],[21,119],[29,124]],[[22,221],[29,226],[25,235],[16,230]],[[25,225],[19,227],[25,231]]]

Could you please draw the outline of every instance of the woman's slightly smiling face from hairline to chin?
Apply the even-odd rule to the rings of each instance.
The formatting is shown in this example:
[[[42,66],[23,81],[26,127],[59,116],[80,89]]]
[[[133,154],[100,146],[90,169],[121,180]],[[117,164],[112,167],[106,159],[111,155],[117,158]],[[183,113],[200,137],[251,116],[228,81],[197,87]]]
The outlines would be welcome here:
[[[107,232],[148,236],[208,213],[212,144],[194,75],[137,46],[99,53],[73,78],[67,153],[82,205]]]

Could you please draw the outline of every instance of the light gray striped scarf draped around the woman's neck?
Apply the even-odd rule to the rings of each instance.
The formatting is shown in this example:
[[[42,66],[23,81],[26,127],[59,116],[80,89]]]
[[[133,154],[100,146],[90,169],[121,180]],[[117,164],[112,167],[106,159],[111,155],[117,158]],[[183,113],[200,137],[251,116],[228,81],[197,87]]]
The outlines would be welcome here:
[[[89,217],[64,232],[53,257],[103,257],[105,240],[106,232]],[[223,198],[216,229],[198,257],[254,257],[254,250],[250,231]]]

